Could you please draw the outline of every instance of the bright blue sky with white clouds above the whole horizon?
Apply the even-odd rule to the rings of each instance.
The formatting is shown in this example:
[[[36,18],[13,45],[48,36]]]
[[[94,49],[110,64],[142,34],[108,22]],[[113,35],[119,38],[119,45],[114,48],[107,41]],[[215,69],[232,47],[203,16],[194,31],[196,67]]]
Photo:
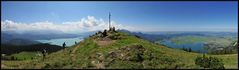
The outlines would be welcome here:
[[[237,1],[2,1],[2,31],[81,33],[112,25],[130,31],[233,31]]]

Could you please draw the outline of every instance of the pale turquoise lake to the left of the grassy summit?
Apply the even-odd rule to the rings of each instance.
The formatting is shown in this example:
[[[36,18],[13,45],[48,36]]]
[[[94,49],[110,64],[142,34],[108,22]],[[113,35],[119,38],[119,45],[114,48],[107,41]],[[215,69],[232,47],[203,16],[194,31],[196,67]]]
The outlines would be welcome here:
[[[79,43],[82,41],[83,37],[76,37],[76,38],[59,38],[59,39],[50,39],[50,40],[36,40],[41,43],[49,43],[52,45],[59,45],[62,46],[62,44],[65,42],[67,47],[70,47],[75,44],[75,42]]]

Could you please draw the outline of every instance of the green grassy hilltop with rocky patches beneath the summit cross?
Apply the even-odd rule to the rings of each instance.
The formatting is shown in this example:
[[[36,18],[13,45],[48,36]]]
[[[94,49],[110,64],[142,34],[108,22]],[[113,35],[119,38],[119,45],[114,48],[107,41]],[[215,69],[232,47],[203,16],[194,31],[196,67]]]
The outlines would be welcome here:
[[[124,32],[98,32],[84,41],[42,58],[24,61],[2,61],[2,68],[33,69],[191,69],[200,53],[186,52],[151,43]],[[238,68],[238,54],[207,55],[222,59],[225,68]]]

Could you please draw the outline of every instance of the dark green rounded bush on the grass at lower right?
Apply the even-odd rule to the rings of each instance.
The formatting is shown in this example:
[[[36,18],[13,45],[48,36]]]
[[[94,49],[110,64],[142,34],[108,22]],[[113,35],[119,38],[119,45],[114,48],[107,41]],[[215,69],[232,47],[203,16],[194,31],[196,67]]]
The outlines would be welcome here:
[[[204,68],[224,69],[224,64],[216,57],[197,57],[195,64]]]

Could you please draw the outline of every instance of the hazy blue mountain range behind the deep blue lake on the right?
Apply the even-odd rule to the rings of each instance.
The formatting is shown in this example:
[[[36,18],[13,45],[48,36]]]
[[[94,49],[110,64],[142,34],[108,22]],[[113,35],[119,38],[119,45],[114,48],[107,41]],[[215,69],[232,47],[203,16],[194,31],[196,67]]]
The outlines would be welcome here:
[[[121,32],[126,32],[131,35],[137,35],[140,38],[146,39],[148,41],[154,42],[162,39],[170,39],[178,36],[217,36],[217,37],[237,37],[237,32],[131,32],[126,29],[119,30]]]

